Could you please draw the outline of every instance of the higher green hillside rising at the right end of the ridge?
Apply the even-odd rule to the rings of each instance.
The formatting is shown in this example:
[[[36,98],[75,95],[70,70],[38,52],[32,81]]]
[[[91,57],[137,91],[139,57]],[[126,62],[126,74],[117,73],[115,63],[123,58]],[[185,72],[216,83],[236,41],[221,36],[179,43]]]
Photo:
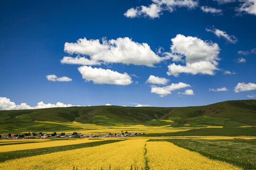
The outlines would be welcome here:
[[[175,108],[161,119],[180,117],[181,122],[185,124],[187,119],[198,116],[226,118],[223,120],[256,125],[256,100],[226,101],[207,106]]]

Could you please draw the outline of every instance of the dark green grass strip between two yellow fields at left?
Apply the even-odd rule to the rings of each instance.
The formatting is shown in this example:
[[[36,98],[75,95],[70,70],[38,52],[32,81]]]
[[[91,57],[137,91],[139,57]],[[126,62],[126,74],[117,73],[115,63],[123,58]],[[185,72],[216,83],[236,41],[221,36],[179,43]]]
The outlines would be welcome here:
[[[90,142],[90,143],[84,143],[84,144],[70,144],[70,145],[56,146],[56,147],[2,152],[0,153],[0,162],[29,157],[29,156],[36,156],[36,155],[41,155],[46,153],[55,153],[60,151],[69,151],[74,149],[99,146],[101,144],[110,144],[110,143],[115,143],[120,141],[123,141],[123,140],[104,140],[104,141]]]

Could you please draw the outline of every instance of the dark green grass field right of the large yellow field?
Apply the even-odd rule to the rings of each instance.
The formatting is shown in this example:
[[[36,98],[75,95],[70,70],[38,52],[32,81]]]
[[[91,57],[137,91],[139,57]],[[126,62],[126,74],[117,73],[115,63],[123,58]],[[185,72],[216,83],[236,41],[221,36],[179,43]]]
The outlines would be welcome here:
[[[247,170],[256,169],[256,140],[252,139],[151,139],[167,141],[210,159],[226,161]]]

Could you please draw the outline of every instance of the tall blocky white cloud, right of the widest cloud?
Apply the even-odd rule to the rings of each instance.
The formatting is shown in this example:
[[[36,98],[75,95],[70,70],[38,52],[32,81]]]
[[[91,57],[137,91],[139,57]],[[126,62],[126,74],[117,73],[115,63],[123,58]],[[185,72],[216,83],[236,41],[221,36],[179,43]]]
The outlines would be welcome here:
[[[214,75],[219,70],[219,45],[217,43],[203,41],[197,37],[176,35],[172,39],[171,52],[169,56],[182,60],[185,57],[186,65],[168,66],[167,75],[179,76],[180,73]]]

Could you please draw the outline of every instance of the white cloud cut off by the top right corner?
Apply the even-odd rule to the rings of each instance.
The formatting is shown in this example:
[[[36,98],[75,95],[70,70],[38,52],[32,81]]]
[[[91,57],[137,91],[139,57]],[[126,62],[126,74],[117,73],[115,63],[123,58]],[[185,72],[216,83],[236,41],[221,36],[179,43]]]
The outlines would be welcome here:
[[[256,15],[256,0],[240,0],[243,3],[237,8],[238,12]]]

